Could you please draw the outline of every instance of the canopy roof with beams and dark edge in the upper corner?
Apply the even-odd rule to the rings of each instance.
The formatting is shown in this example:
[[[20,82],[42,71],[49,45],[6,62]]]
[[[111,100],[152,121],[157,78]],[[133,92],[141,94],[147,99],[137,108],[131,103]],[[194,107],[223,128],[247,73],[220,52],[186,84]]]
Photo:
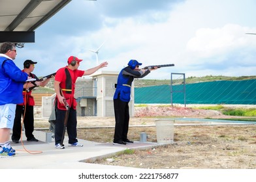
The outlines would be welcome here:
[[[1,0],[0,42],[35,42],[35,29],[69,2],[71,0]]]

